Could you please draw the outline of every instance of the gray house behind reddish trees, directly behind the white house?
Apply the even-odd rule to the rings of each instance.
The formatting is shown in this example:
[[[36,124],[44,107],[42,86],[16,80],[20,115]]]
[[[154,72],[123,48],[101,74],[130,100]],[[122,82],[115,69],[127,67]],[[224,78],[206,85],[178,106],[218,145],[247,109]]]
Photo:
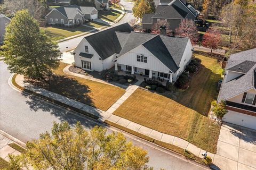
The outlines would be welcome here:
[[[167,20],[170,29],[175,31],[185,19],[195,20],[197,11],[190,4],[181,0],[164,0],[156,7],[154,14],[145,14],[142,18],[142,30],[151,30],[153,25],[160,20]],[[157,3],[157,2],[155,2]]]

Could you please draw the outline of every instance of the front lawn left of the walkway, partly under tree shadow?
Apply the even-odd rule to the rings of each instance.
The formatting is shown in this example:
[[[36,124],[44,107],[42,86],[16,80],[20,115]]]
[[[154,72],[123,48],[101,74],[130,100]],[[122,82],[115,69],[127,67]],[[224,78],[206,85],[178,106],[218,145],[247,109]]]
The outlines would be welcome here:
[[[56,75],[47,83],[31,83],[103,111],[107,111],[125,93],[125,90],[119,87],[67,75],[62,71],[66,66],[67,64],[61,63],[54,71]]]

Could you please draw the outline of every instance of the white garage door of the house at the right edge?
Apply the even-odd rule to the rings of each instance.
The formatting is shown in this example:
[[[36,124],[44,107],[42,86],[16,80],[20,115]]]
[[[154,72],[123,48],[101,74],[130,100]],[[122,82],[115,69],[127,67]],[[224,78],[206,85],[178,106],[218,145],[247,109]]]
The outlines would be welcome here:
[[[256,129],[256,117],[234,111],[228,111],[223,117],[224,122],[237,124],[246,128]]]

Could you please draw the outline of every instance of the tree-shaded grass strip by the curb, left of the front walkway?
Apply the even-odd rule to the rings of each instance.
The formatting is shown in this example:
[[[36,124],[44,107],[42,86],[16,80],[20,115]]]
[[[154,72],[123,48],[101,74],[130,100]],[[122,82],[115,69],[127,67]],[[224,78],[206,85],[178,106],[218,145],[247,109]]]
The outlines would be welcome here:
[[[34,92],[34,91],[31,91],[31,90],[28,90],[28,89],[26,89],[26,88],[23,88],[23,87],[19,86],[19,84],[17,84],[17,83],[15,82],[16,76],[17,76],[17,74],[14,74],[14,76],[12,77],[12,84],[13,84],[15,87],[17,87],[18,89],[20,89],[20,90],[22,90],[22,91],[24,91],[24,92],[27,92],[27,93],[30,94],[30,95],[34,95],[34,96],[36,96],[36,97],[39,97],[39,98],[42,98],[42,99],[44,99],[44,100],[50,101],[51,103],[54,103],[54,104],[63,106],[63,107],[65,107],[65,108],[69,109],[69,110],[72,110],[72,111],[81,113],[81,114],[83,114],[83,115],[85,115],[85,116],[89,116],[89,117],[91,117],[91,118],[94,118],[95,120],[98,120],[98,118],[99,118],[98,116],[95,116],[95,115],[93,115],[93,114],[84,112],[84,111],[82,111],[81,109],[78,109],[78,108],[69,106],[69,105],[67,105],[67,104],[65,104],[65,103],[61,103],[61,102],[58,101],[58,100],[54,100],[54,99],[52,99],[52,98],[43,96],[43,95],[41,95],[41,94],[37,94],[37,93]]]

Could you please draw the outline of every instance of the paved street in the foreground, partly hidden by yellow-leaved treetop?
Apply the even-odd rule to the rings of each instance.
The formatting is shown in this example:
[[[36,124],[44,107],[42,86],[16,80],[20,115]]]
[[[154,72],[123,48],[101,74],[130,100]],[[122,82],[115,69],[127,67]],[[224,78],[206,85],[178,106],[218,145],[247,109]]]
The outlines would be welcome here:
[[[71,125],[77,121],[81,121],[87,129],[97,125],[97,122],[94,122],[90,118],[72,114],[59,106],[13,90],[8,84],[11,74],[7,71],[7,66],[3,61],[0,64],[1,130],[26,142],[27,140],[38,138],[39,133],[50,131],[53,121],[68,121]],[[108,133],[113,130],[116,129],[110,128]],[[141,146],[148,151],[150,157],[148,165],[154,166],[155,169],[161,167],[165,169],[204,169],[192,162],[187,162],[187,160],[176,157],[177,155],[157,147],[153,143],[135,138],[129,134],[126,134],[126,136],[135,145]]]

